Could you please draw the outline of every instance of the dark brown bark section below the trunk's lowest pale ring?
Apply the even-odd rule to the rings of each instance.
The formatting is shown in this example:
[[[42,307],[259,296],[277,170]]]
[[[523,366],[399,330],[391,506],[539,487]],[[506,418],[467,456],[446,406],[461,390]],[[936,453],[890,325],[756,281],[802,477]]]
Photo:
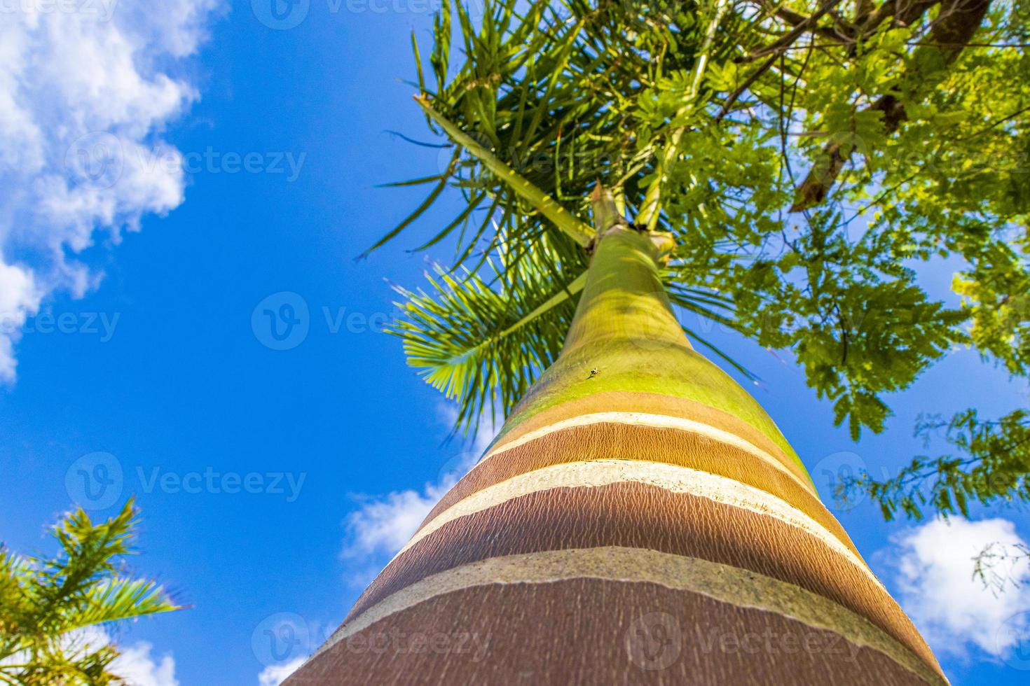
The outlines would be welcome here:
[[[926,683],[833,631],[654,583],[476,586],[398,612],[376,631],[389,639],[340,641],[287,683]],[[421,636],[438,637],[436,648]]]

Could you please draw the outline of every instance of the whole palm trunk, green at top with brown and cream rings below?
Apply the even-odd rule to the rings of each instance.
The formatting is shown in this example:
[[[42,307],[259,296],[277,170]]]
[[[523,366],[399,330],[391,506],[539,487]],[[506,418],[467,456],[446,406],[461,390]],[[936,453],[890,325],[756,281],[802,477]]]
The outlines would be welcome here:
[[[289,686],[947,683],[660,251],[604,233],[558,360]]]

